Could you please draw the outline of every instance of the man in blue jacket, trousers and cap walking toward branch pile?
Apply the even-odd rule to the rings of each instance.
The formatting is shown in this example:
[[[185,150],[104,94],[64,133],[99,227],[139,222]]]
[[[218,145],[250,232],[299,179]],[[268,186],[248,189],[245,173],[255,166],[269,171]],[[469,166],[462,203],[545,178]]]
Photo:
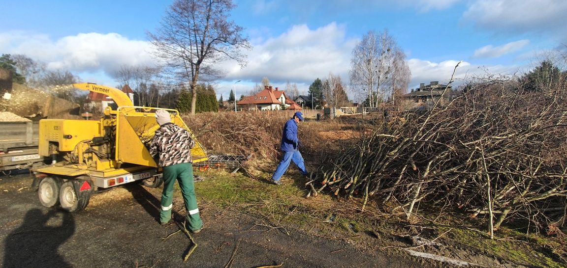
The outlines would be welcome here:
[[[301,174],[307,176],[307,169],[305,168],[305,163],[303,162],[303,157],[299,152],[299,139],[297,137],[297,124],[299,121],[303,121],[303,114],[301,112],[295,112],[293,117],[285,123],[284,132],[282,133],[282,142],[280,149],[284,152],[284,158],[280,162],[280,165],[276,168],[276,172],[272,175],[273,184],[280,185],[280,178],[284,175],[289,163],[293,161],[295,165],[301,171]]]

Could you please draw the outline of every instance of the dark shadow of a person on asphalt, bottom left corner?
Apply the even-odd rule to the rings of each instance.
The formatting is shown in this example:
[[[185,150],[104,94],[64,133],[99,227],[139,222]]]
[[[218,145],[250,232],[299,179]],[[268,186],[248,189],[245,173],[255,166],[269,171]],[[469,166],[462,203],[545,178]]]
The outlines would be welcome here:
[[[72,213],[32,209],[6,237],[2,267],[72,267],[58,248],[75,232]]]

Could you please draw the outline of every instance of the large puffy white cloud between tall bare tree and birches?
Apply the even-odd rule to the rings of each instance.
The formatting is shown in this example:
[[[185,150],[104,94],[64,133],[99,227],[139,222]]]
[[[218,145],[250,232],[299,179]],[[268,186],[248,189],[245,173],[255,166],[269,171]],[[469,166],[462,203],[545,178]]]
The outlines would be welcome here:
[[[256,44],[242,70],[235,63],[227,64],[226,78],[260,82],[266,76],[273,83],[311,84],[332,72],[348,79],[350,51],[355,44],[336,23],[318,29],[294,25],[280,36]]]

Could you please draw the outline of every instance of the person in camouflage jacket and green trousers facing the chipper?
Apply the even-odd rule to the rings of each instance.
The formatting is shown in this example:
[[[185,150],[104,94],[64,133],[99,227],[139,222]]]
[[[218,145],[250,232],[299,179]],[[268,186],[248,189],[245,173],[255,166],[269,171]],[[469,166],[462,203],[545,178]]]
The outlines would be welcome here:
[[[203,228],[203,222],[197,208],[193,185],[191,148],[195,145],[195,141],[191,139],[187,130],[171,123],[170,114],[166,110],[157,110],[155,119],[160,127],[151,140],[150,154],[154,159],[158,159],[156,162],[159,162],[158,165],[163,168],[164,184],[159,221],[161,224],[172,222],[171,209],[174,184],[177,179],[187,209],[185,228],[196,234]]]

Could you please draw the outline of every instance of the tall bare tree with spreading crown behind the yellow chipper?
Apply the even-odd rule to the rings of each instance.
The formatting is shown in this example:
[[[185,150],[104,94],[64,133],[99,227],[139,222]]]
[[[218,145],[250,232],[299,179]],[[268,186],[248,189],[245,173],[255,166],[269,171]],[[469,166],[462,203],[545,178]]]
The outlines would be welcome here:
[[[156,55],[191,90],[191,114],[195,113],[197,83],[221,76],[215,63],[232,59],[241,67],[246,65],[241,50],[251,45],[242,36],[243,28],[228,19],[234,7],[231,0],[176,0],[158,31],[148,33]]]

